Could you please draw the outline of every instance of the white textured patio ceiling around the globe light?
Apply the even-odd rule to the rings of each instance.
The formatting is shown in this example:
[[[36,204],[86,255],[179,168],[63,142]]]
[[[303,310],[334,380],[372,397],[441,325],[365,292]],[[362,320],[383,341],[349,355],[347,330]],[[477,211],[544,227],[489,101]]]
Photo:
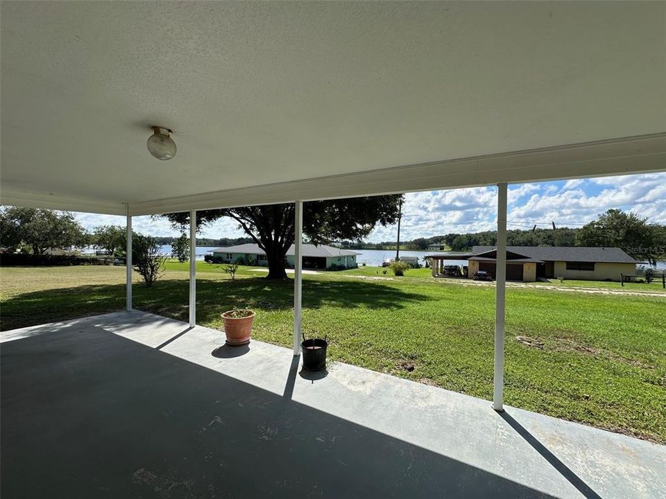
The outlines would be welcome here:
[[[665,19],[665,2],[3,1],[1,189],[121,212],[664,132]],[[148,154],[153,124],[175,159]]]

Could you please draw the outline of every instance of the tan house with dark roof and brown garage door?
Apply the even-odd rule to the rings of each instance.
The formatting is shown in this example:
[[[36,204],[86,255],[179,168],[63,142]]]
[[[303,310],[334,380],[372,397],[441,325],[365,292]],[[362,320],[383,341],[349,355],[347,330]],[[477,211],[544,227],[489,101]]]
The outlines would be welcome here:
[[[484,270],[493,279],[497,271],[497,248],[475,246],[468,254],[441,254],[432,259],[432,275],[445,274],[447,261],[467,260],[467,277]],[[635,275],[636,264],[631,256],[617,247],[551,247],[507,246],[506,279],[536,281],[538,278],[580,279],[586,281],[620,281],[622,274]]]

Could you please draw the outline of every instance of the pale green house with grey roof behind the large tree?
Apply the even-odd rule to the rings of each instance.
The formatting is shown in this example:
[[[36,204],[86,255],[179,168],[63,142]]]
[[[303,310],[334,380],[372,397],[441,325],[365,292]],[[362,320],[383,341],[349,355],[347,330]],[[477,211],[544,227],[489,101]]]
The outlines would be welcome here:
[[[302,245],[303,268],[336,269],[356,268],[356,256],[360,253],[327,245]],[[239,262],[245,265],[266,266],[266,254],[256,244],[221,247],[212,250],[214,261],[225,263]],[[293,268],[293,245],[287,251],[287,263]]]

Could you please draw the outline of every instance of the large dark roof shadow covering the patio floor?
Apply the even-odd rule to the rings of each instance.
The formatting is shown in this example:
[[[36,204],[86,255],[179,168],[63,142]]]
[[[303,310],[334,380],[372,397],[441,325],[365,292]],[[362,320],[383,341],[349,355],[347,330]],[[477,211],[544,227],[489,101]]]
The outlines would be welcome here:
[[[92,326],[0,369],[7,498],[549,497]]]

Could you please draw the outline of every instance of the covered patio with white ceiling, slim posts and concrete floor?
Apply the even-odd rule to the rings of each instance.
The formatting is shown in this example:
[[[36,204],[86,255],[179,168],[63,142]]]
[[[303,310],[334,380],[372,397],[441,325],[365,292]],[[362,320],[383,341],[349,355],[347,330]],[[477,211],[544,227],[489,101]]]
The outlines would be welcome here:
[[[538,414],[518,421],[511,408],[498,415],[486,401],[352,366],[326,380],[330,391],[296,371],[303,202],[497,185],[488,362],[502,412],[508,185],[665,170],[655,105],[666,101],[665,3],[0,8],[2,204],[126,216],[128,255],[133,217],[189,211],[193,241],[189,324],[137,315],[128,265],[124,313],[12,333],[2,462],[14,495],[663,488],[663,448]],[[153,126],[173,131],[173,159],[148,154]],[[293,350],[219,362],[214,332],[196,326],[196,210],[277,203],[296,206]],[[413,404],[418,423],[400,411]]]

